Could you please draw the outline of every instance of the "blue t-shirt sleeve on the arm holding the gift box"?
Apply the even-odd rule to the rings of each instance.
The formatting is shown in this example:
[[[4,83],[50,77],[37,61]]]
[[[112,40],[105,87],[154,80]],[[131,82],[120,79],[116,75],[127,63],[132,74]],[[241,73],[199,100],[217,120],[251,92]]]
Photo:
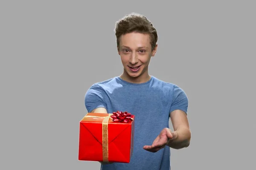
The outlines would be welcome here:
[[[93,84],[89,90],[86,92],[84,96],[84,104],[85,107],[90,113],[96,108],[105,108],[107,109],[107,105],[104,102],[104,91],[102,88],[99,87],[99,85]]]

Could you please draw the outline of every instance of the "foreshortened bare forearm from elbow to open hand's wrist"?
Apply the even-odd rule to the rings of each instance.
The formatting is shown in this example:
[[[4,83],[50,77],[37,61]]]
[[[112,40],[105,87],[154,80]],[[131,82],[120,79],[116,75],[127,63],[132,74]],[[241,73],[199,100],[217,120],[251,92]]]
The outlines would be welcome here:
[[[175,139],[170,139],[167,145],[174,149],[188,147],[191,138],[190,130],[188,128],[179,128],[175,131],[175,133],[177,133],[177,137]]]

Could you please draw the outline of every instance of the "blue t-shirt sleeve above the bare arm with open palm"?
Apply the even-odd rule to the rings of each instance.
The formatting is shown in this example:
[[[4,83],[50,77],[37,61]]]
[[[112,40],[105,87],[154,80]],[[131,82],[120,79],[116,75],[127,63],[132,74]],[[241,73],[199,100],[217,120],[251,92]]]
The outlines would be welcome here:
[[[175,85],[173,90],[173,99],[170,108],[170,113],[175,110],[181,110],[187,114],[188,105],[189,101],[186,93],[183,91],[183,89]]]

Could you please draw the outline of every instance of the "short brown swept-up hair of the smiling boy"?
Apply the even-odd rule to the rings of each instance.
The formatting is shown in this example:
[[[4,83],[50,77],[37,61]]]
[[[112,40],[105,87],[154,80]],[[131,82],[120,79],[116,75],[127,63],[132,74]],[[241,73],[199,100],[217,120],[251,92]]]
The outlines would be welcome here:
[[[118,48],[120,37],[131,32],[148,34],[151,40],[151,50],[153,50],[157,44],[157,30],[154,28],[153,24],[142,14],[131,13],[116,21],[114,31],[116,34],[116,44]]]

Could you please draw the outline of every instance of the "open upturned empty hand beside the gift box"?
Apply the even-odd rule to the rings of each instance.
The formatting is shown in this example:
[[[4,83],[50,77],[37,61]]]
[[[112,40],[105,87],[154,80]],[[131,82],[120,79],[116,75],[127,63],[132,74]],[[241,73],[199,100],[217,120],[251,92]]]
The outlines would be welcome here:
[[[152,145],[145,145],[143,149],[155,153],[158,150],[163,149],[166,146],[166,144],[168,144],[169,142],[176,138],[177,132],[172,132],[169,128],[166,127],[160,132],[160,135],[157,136]]]

